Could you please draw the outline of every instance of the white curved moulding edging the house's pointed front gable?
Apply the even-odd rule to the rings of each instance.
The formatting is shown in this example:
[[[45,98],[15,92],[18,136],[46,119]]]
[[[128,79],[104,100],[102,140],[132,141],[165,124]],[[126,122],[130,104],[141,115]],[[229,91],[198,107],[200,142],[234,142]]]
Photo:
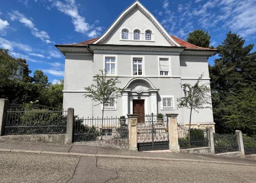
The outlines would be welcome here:
[[[165,37],[165,39],[170,43],[172,46],[180,46],[168,33],[167,31],[162,27],[162,25],[159,23],[159,21],[155,18],[155,16],[148,11],[139,1],[135,1],[131,6],[126,8],[118,17],[117,19],[110,25],[109,29],[107,29],[93,44],[101,43],[108,35],[114,31],[117,24],[134,8],[138,8],[148,19],[152,21],[153,24],[155,24],[156,28],[159,30],[159,32]]]

